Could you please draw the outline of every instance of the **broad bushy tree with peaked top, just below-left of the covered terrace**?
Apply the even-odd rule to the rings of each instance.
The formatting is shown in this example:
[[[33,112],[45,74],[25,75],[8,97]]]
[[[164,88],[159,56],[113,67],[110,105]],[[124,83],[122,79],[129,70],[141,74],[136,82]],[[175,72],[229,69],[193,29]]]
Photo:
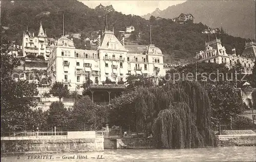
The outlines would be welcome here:
[[[88,96],[73,106],[71,122],[75,130],[100,130],[106,117],[106,108],[96,105]]]

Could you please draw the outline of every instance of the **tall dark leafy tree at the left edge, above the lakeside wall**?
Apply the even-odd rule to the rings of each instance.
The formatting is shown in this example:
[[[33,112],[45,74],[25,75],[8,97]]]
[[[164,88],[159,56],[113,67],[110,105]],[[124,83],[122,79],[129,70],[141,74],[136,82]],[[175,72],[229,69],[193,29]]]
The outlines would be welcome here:
[[[1,37],[1,130],[15,131],[29,128],[31,107],[38,95],[36,85],[28,81],[12,79],[13,70],[20,62],[14,54],[8,54],[10,43]]]

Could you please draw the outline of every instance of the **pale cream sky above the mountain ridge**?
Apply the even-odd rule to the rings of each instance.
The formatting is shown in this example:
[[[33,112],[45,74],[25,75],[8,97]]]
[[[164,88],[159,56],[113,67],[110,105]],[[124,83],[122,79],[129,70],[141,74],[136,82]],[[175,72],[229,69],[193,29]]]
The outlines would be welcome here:
[[[160,10],[164,10],[169,6],[181,4],[185,1],[95,1],[95,0],[84,0],[80,1],[84,5],[95,8],[99,4],[103,6],[112,5],[114,9],[118,12],[122,12],[123,14],[129,15],[145,15],[148,13],[152,13],[159,8]]]

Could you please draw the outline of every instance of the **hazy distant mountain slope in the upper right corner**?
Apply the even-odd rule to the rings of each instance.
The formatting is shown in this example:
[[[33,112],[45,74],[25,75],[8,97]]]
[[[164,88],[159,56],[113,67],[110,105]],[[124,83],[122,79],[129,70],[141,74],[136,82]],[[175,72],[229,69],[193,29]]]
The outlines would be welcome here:
[[[195,22],[202,22],[212,28],[223,27],[228,34],[243,38],[255,35],[255,1],[187,1],[167,9],[153,12],[151,15],[163,18],[175,18],[181,13],[191,13]]]

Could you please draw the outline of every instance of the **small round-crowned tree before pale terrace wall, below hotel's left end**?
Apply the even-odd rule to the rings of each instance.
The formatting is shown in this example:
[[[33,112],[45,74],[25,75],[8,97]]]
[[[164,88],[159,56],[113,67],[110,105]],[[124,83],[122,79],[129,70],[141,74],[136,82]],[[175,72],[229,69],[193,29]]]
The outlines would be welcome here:
[[[55,82],[50,89],[50,95],[58,97],[60,101],[61,98],[69,96],[69,89],[63,83]]]

